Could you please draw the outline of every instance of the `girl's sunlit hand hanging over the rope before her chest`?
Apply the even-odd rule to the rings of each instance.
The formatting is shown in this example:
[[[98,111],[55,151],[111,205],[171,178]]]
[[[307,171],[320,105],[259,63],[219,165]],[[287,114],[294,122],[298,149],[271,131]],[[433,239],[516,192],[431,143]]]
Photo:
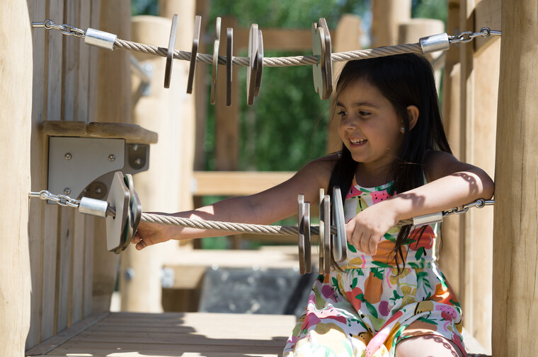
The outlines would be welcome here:
[[[345,236],[357,250],[376,254],[383,235],[398,223],[396,213],[388,203],[383,201],[368,207],[345,225]]]

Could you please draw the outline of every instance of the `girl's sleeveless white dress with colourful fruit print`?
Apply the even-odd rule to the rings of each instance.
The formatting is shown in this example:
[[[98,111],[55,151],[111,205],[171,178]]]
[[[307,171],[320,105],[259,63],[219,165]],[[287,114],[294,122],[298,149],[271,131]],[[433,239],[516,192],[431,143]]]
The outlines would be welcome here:
[[[344,203],[349,221],[394,194],[393,183],[353,185]],[[366,255],[348,243],[348,259],[319,275],[307,308],[287,340],[284,357],[394,357],[396,344],[424,334],[451,340],[467,356],[462,309],[437,266],[440,223],[415,228],[404,246],[405,269],[398,274],[391,251],[399,228],[391,228]],[[401,263],[400,263],[401,264]]]

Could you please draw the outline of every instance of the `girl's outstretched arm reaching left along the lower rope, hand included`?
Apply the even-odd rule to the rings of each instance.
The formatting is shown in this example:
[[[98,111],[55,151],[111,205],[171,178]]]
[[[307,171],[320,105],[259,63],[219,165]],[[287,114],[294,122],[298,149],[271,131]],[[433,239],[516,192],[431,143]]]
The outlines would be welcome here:
[[[290,180],[257,194],[231,197],[215,204],[169,216],[223,221],[234,223],[269,224],[297,212],[297,195],[304,194],[305,201],[317,201],[319,189],[327,189],[336,156],[311,161]],[[160,213],[167,214],[167,213]],[[192,239],[227,235],[219,230],[202,230],[156,223],[140,223],[132,242],[138,250],[170,239]]]

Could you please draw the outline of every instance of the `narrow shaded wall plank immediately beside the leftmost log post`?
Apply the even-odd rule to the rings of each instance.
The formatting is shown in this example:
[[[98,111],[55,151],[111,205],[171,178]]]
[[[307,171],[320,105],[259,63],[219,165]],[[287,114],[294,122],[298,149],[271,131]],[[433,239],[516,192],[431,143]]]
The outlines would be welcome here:
[[[45,13],[45,1],[28,1],[30,21],[42,21]],[[42,170],[46,162],[46,142],[40,132],[40,123],[43,116],[43,92],[45,67],[43,54],[45,52],[45,31],[32,32],[33,36],[33,95],[32,95],[32,141],[30,145],[30,176],[32,190],[39,191],[45,187],[45,171]],[[30,275],[32,279],[32,294],[30,307],[30,331],[26,338],[25,349],[35,346],[40,342],[41,327],[41,299],[42,299],[42,247],[43,247],[43,211],[45,203],[40,200],[30,200],[28,216],[28,244],[30,250]]]

